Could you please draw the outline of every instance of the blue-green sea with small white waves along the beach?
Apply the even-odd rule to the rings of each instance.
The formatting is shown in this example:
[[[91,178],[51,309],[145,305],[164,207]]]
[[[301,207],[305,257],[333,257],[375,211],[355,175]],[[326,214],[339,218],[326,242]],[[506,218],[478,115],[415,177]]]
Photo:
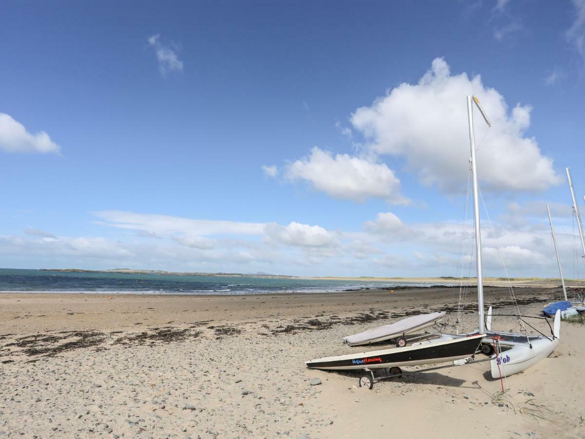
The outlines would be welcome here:
[[[310,280],[249,276],[135,275],[0,269],[0,291],[31,293],[252,294],[318,293],[351,289],[429,286],[412,282]]]

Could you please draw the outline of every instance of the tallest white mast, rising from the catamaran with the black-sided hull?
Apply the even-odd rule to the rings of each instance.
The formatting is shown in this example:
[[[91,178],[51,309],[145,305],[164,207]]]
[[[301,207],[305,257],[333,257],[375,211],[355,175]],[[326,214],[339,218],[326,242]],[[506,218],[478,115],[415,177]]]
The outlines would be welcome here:
[[[475,136],[473,134],[473,102],[479,108],[481,115],[488,126],[491,126],[490,119],[487,118],[479,101],[475,96],[467,96],[467,119],[469,119],[469,144],[472,150],[472,176],[473,176],[473,214],[475,218],[475,236],[476,236],[476,265],[477,265],[477,311],[479,314],[479,332],[486,333],[486,324],[484,322],[483,310],[483,273],[481,272],[481,229],[479,221],[479,188],[477,187],[477,168],[475,157]]]

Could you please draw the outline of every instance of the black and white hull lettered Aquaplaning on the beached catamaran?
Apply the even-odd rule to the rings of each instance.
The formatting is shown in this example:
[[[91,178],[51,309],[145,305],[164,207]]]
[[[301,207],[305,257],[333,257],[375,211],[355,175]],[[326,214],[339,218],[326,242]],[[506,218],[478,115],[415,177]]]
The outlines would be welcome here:
[[[485,334],[469,337],[449,337],[415,343],[404,348],[326,356],[305,362],[310,369],[381,369],[455,361],[477,352]]]

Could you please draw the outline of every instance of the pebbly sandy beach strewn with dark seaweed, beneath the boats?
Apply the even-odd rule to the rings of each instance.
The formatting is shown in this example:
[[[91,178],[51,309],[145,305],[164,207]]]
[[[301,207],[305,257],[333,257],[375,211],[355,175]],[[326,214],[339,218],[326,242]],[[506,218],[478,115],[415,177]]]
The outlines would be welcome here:
[[[516,293],[522,312],[538,315],[559,291]],[[585,437],[581,325],[563,323],[553,355],[507,379],[508,406],[492,401],[500,381],[486,378],[487,362],[373,390],[357,387],[359,374],[305,368],[363,351],[343,335],[454,307],[457,294],[0,294],[0,436]],[[486,304],[512,311],[503,288],[488,287]],[[473,306],[465,329],[476,326]],[[494,328],[515,325],[494,317]]]

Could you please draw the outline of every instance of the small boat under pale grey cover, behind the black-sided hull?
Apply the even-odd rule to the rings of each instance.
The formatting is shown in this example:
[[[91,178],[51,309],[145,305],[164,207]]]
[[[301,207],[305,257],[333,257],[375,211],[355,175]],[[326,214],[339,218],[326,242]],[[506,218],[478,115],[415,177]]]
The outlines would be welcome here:
[[[444,317],[445,314],[447,314],[445,311],[439,311],[431,314],[413,315],[390,325],[380,326],[355,335],[348,335],[343,338],[343,342],[349,346],[358,346],[401,337],[432,326],[435,321]]]

